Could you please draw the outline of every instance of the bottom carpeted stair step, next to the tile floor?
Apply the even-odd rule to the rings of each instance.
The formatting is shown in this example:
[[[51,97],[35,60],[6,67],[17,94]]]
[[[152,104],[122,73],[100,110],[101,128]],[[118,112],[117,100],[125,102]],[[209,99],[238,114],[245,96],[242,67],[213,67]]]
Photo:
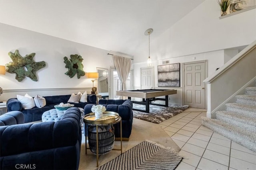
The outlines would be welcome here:
[[[256,133],[218,119],[202,118],[202,125],[228,139],[256,152]]]

